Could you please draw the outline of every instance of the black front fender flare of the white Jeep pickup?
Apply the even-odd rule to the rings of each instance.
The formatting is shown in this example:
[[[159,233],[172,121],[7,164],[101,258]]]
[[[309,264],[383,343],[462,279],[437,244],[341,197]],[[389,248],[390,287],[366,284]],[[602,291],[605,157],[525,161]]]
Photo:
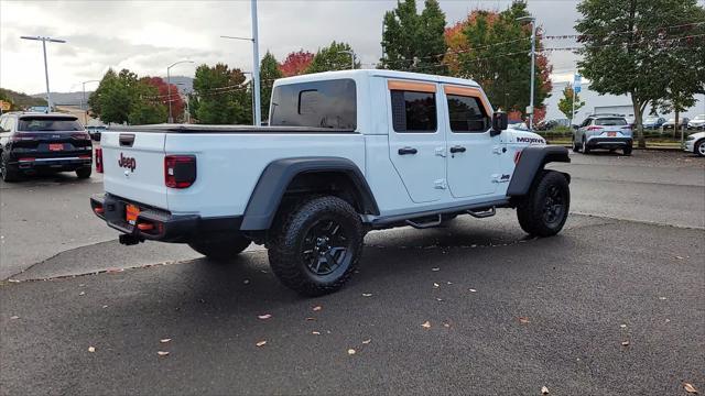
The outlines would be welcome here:
[[[508,197],[521,197],[529,194],[534,178],[545,164],[551,162],[570,163],[568,150],[562,146],[527,146],[521,151],[519,163],[507,188]],[[571,176],[564,174],[571,182]]]

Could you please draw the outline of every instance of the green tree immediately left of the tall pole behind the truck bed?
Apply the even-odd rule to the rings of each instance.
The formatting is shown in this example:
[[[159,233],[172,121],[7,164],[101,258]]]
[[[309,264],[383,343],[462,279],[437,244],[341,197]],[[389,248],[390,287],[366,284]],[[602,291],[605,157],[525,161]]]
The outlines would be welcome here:
[[[251,91],[245,85],[240,69],[225,64],[200,65],[194,78],[194,94],[198,98],[195,116],[208,124],[249,124]]]

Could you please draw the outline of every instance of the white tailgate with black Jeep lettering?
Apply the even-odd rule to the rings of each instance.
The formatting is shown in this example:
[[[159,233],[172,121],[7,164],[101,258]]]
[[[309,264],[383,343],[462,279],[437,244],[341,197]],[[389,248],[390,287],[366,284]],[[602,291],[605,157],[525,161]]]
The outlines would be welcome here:
[[[138,204],[167,209],[164,140],[159,132],[102,132],[106,193]]]

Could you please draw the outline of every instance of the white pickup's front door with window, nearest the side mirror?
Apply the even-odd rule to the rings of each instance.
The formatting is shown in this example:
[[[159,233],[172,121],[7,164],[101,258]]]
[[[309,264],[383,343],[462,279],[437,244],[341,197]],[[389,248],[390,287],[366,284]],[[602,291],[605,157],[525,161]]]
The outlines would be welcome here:
[[[455,198],[491,195],[500,175],[500,136],[490,136],[491,109],[482,92],[473,87],[444,86],[444,122],[448,146],[447,178]]]

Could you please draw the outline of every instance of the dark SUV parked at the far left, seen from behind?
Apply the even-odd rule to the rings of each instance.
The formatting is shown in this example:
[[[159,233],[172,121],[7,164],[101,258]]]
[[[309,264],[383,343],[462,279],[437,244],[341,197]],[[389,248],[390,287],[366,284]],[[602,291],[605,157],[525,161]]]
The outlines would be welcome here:
[[[4,182],[40,170],[90,176],[93,143],[76,117],[12,112],[0,117],[0,174]]]

